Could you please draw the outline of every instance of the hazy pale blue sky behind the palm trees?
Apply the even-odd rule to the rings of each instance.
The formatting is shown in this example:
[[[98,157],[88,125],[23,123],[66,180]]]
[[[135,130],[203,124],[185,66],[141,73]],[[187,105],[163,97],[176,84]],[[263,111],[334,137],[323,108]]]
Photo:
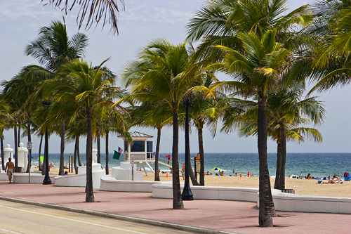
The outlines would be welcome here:
[[[46,2],[46,1],[44,1]],[[289,1],[289,8],[297,8],[312,1]],[[185,40],[185,25],[193,13],[204,4],[202,0],[125,0],[126,11],[119,16],[119,36],[109,34],[110,25],[101,30],[101,25],[85,31],[90,42],[86,50],[86,60],[93,65],[100,64],[110,58],[107,67],[119,74],[121,68],[128,61],[135,59],[140,48],[146,46],[154,37],[164,37],[173,44]],[[69,35],[78,32],[76,11],[65,16]],[[36,39],[39,27],[48,26],[51,20],[62,20],[59,9],[43,6],[40,0],[0,0],[0,80],[9,80],[21,67],[29,64],[38,64],[36,60],[24,55],[25,46],[29,41]],[[228,79],[224,75],[220,79]],[[323,143],[306,141],[305,143],[289,143],[288,152],[350,152],[351,144],[348,139],[351,131],[350,103],[351,88],[333,89],[326,93],[314,93],[319,100],[324,101],[327,111],[326,120],[317,129],[322,132]],[[157,131],[154,129],[132,129],[150,134],[156,142]],[[184,152],[184,132],[180,131],[180,152]],[[33,137],[33,151],[37,152],[39,138]],[[26,143],[27,138],[22,138]],[[60,143],[57,136],[50,139],[50,152],[60,152]],[[13,131],[5,133],[5,144],[13,146]],[[110,136],[110,152],[122,146],[121,139]],[[198,151],[197,131],[193,129],[190,137],[192,152]],[[268,140],[268,152],[275,152],[277,144]],[[72,143],[66,145],[65,152],[73,152]],[[171,152],[172,131],[162,129],[161,152]],[[213,139],[208,131],[204,131],[205,152],[257,152],[257,138],[239,138],[236,133],[221,134],[218,132]],[[81,152],[85,151],[85,139],[81,139]],[[102,140],[102,152],[105,151],[105,141]]]

